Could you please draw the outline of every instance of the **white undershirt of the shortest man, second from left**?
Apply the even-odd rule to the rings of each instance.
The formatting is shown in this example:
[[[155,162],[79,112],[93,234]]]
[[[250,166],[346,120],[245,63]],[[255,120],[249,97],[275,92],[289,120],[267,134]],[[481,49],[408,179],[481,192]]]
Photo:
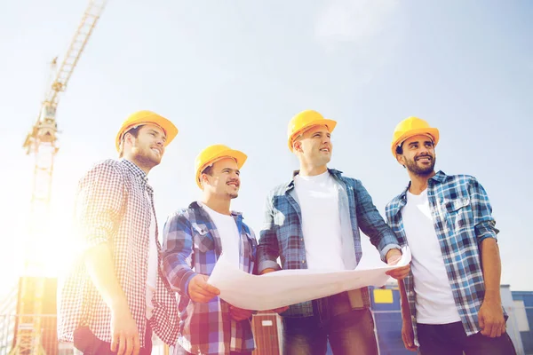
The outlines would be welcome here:
[[[204,203],[200,202],[200,206],[205,209],[209,214],[209,217],[213,220],[213,223],[217,226],[219,232],[220,241],[222,242],[222,253],[225,255],[226,260],[236,267],[240,265],[240,245],[241,235],[237,229],[235,218],[229,215],[223,215],[216,210],[210,209]]]

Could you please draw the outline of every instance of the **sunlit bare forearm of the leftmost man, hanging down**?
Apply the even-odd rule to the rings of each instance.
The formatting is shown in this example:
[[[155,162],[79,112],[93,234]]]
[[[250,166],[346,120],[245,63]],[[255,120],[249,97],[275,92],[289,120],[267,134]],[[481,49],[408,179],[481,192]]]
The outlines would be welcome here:
[[[92,283],[112,311],[128,307],[128,300],[116,278],[115,264],[107,243],[100,243],[84,254],[84,264]]]

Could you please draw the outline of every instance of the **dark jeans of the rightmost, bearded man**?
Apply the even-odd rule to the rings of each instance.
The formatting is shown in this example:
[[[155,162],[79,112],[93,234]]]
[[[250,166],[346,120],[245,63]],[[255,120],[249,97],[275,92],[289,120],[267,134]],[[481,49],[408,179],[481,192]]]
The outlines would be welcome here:
[[[513,341],[507,333],[490,338],[476,333],[467,336],[461,322],[449,324],[417,324],[418,343],[422,355],[514,355]]]

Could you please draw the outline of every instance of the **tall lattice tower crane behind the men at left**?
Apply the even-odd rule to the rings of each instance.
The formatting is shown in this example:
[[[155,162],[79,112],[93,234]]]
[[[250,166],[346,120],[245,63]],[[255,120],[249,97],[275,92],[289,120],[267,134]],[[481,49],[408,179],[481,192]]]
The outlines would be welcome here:
[[[55,154],[58,153],[58,124],[56,110],[60,92],[67,89],[68,80],[85,45],[104,10],[107,0],[91,0],[85,9],[67,55],[59,70],[57,59],[52,61],[52,84],[44,95],[36,123],[24,141],[26,154],[35,156],[28,244],[25,246],[24,273],[20,278],[18,319],[15,328],[13,355],[45,354],[42,339],[44,256],[40,246],[46,243],[49,233],[52,172]],[[55,352],[55,351],[52,351]]]

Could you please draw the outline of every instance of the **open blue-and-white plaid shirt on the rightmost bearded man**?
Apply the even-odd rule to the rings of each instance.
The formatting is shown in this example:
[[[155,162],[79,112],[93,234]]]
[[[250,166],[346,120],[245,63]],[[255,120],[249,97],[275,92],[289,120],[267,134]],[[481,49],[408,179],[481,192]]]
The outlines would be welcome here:
[[[407,244],[402,208],[409,186],[386,206],[386,217],[398,241]],[[489,197],[475,179],[467,175],[446,175],[442,171],[427,181],[427,199],[434,228],[441,245],[449,285],[467,335],[478,333],[478,312],[485,296],[479,245],[499,232],[491,216]],[[417,336],[416,294],[412,272],[403,280]]]

